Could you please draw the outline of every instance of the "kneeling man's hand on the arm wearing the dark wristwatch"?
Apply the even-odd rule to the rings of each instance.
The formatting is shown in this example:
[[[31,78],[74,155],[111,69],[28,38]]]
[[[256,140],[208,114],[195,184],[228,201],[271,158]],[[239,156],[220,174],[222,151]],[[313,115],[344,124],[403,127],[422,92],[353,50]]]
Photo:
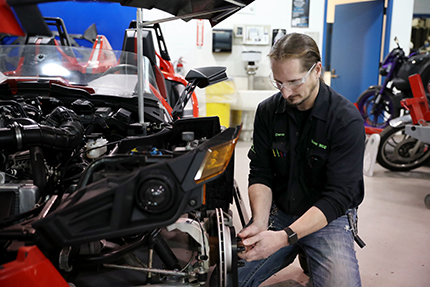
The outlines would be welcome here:
[[[251,226],[252,225],[249,227]],[[243,231],[246,231],[246,229]],[[243,231],[238,235],[241,236]],[[239,257],[249,262],[267,258],[282,247],[287,246],[288,236],[283,230],[264,230],[256,235],[246,237],[243,239],[242,243],[245,246],[245,252],[239,254]]]

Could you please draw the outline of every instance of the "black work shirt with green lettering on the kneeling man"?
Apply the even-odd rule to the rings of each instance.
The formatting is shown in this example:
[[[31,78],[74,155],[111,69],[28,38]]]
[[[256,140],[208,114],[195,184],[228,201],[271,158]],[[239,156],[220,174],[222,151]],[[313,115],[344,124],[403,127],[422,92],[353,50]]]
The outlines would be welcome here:
[[[302,131],[279,92],[257,108],[249,186],[271,188],[275,204],[301,216],[319,208],[330,223],[364,197],[363,119],[355,106],[320,84]]]

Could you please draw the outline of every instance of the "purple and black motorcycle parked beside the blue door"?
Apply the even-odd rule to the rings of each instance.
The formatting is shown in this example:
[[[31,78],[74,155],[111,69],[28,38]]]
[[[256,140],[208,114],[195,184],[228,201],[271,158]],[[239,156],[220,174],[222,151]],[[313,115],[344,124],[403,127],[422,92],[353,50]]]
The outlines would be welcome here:
[[[366,126],[385,128],[391,119],[400,116],[400,101],[412,98],[408,77],[420,74],[424,87],[430,82],[430,54],[411,52],[408,56],[397,47],[384,59],[379,74],[385,77],[382,85],[370,86],[357,100],[357,106]]]

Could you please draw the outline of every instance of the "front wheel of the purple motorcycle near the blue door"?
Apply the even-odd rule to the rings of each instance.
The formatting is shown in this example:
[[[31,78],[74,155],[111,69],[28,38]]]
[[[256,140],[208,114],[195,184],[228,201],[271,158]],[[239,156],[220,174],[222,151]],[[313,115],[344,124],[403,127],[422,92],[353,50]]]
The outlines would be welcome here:
[[[358,110],[368,127],[385,128],[388,122],[400,115],[400,109],[394,107],[391,95],[382,94],[382,100],[375,107],[375,99],[381,86],[374,86],[364,91],[357,99]],[[372,113],[372,109],[374,112]]]

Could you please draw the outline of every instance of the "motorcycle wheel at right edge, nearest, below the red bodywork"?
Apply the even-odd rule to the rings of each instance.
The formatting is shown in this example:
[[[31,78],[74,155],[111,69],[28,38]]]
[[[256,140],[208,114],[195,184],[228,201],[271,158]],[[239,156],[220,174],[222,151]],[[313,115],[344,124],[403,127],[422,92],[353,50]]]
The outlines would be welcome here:
[[[430,158],[430,146],[407,135],[405,127],[389,125],[380,136],[376,161],[386,169],[409,171],[422,166]]]

